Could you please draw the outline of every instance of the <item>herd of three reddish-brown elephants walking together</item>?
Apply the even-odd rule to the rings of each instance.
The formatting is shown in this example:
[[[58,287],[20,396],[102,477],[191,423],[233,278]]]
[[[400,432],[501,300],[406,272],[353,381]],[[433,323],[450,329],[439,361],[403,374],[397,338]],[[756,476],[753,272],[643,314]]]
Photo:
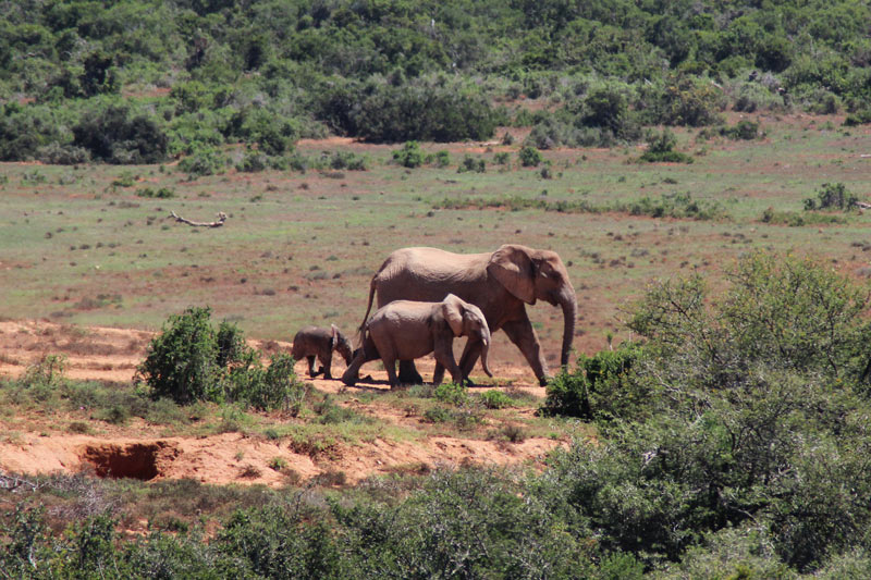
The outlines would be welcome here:
[[[369,318],[376,296],[378,309]],[[338,351],[347,365],[342,375],[347,385],[356,384],[364,363],[381,359],[393,387],[421,383],[414,360],[432,353],[432,382],[441,383],[447,369],[452,380],[461,383],[468,380],[479,357],[484,372],[492,377],[487,363],[491,333],[503,330],[544,385],[548,367],[526,312],[526,305],[537,300],[563,310],[560,365],[565,366],[575,334],[577,297],[556,252],[516,244],[486,254],[403,248],[392,252],[372,276],[359,348],[352,351],[335,325],[306,326],[294,336],[292,355],[296,360],[307,359],[309,377],[322,372],[331,379],[332,353]],[[459,362],[453,355],[457,336],[468,337]],[[316,357],[321,363],[318,371]]]

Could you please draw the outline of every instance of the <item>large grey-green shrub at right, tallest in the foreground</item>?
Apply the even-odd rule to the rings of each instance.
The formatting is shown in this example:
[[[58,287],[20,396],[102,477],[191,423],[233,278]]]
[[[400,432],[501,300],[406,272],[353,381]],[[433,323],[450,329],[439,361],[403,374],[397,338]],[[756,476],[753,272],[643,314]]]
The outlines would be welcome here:
[[[871,518],[856,503],[869,485],[856,465],[871,444],[858,419],[868,293],[822,264],[760,254],[728,280],[713,301],[698,276],[651,289],[629,321],[645,356],[626,375],[649,396],[604,445],[574,447],[544,478],[604,545],[651,563],[761,523],[770,557],[812,569],[861,545]]]

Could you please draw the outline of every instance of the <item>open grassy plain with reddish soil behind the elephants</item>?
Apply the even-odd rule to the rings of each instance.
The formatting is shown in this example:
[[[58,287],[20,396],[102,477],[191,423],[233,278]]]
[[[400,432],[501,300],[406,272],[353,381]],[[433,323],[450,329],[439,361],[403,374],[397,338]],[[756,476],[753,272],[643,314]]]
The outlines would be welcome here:
[[[866,200],[871,158],[863,155],[871,153],[871,128],[843,128],[839,118],[752,119],[764,138],[700,139],[697,129],[678,132],[678,148],[695,157],[691,164],[640,164],[638,148],[543,151],[551,178],[542,177],[541,168],[519,166],[519,145],[498,143],[425,144],[428,152],[447,149],[451,164],[405,169],[391,161],[398,146],[303,141],[297,149],[305,156],[365,155],[368,170],[228,169],[196,180],[172,164],[4,163],[0,317],[157,330],[187,306],[208,305],[213,317],[235,321],[258,338],[289,340],[308,323],[334,322],[349,332],[366,308],[370,276],[391,250],[476,252],[512,242],[562,256],[579,298],[576,347],[592,353],[605,346],[609,333],[627,337],[619,308],[651,279],[699,270],[715,284],[749,249],[808,252],[842,271],[863,272],[869,256],[861,247],[871,242],[867,215],[787,226],[764,223],[762,213],[769,207],[805,213],[802,200],[824,183],[844,183]],[[508,164],[495,162],[500,152],[510,153]],[[458,173],[466,155],[483,159],[486,172]],[[175,197],[138,196],[146,187],[165,187]],[[686,193],[717,203],[722,215],[436,209],[444,199],[540,198],[603,207]],[[223,211],[229,219],[223,227],[192,227],[176,223],[170,211],[196,221]],[[561,312],[537,305],[530,317],[554,361]],[[516,355],[499,333],[494,360]]]

